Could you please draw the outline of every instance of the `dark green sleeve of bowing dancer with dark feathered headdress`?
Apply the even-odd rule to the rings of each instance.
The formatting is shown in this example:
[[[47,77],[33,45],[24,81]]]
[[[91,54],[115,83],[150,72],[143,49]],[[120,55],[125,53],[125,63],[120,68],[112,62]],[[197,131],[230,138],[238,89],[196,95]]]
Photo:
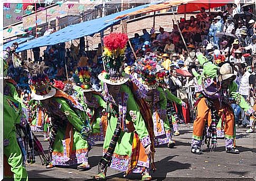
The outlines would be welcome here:
[[[82,122],[81,118],[72,110],[69,104],[62,98],[55,98],[56,102],[61,104],[61,111],[65,114],[68,118],[69,122],[74,126],[78,132],[81,132],[84,123]]]

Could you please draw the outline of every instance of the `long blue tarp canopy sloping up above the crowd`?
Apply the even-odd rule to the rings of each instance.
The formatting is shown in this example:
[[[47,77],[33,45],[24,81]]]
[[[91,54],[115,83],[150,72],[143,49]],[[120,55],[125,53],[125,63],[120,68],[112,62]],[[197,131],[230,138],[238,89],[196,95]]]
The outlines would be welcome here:
[[[139,9],[143,9],[153,4],[159,4],[163,1],[154,2],[146,5],[141,5],[138,7],[134,7],[131,9],[127,9],[125,11],[121,11],[118,13],[114,13],[105,17],[101,17],[98,19],[93,19],[91,21],[82,22],[75,25],[70,25],[63,29],[60,29],[58,32],[54,32],[53,34],[41,36],[39,38],[32,39],[32,41],[23,43],[18,46],[16,52],[22,52],[27,49],[41,47],[41,46],[48,46],[48,45],[55,45],[58,43],[64,43],[71,41],[72,39],[77,39],[83,36],[90,36],[94,35],[95,33],[101,32],[103,29],[110,27],[111,25],[117,24],[121,19],[115,19],[116,17],[131,13],[134,11],[138,11]]]

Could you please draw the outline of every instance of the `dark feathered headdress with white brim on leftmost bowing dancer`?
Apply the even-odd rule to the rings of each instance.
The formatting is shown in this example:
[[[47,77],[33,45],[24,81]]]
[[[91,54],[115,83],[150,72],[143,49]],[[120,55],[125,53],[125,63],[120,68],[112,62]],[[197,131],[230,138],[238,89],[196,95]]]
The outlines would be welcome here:
[[[55,95],[56,89],[50,86],[50,79],[44,73],[46,66],[44,62],[25,65],[25,71],[29,72],[29,84],[31,88],[31,98],[43,100]]]

